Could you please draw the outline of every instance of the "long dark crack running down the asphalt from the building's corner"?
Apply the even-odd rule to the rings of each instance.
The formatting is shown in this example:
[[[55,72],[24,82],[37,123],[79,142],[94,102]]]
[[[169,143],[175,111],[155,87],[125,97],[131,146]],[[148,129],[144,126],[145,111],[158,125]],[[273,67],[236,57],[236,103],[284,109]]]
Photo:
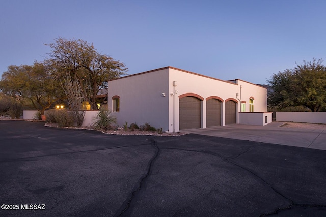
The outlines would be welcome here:
[[[159,156],[160,149],[156,145],[156,142],[153,138],[151,138],[150,141],[151,141],[151,145],[155,149],[155,153],[147,164],[146,173],[143,174],[142,177],[135,184],[135,187],[133,188],[133,191],[129,194],[128,199],[125,200],[125,202],[121,205],[121,207],[119,208],[119,210],[116,212],[116,214],[114,216],[123,216],[123,214],[130,208],[130,204],[131,204],[132,200],[134,199],[134,197],[142,189],[144,183],[147,181],[149,176],[152,174],[152,166],[153,166],[155,160]]]

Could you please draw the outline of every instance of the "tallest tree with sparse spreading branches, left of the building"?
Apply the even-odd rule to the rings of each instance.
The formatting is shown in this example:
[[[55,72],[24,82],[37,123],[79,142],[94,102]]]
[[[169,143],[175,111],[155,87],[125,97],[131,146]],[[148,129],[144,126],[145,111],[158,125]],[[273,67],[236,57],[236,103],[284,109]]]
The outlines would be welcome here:
[[[51,67],[53,77],[61,80],[69,74],[79,81],[92,109],[98,109],[96,96],[100,89],[107,88],[107,81],[128,70],[124,63],[97,52],[93,44],[81,39],[57,38],[55,43],[47,45],[52,48],[46,63]]]

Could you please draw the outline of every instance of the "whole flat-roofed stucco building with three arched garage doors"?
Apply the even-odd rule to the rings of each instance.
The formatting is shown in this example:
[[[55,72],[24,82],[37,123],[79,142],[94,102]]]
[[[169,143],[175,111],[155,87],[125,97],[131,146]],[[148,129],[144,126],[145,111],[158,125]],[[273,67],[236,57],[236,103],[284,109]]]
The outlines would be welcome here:
[[[164,131],[179,132],[232,123],[271,122],[266,88],[170,66],[108,81],[107,99],[120,126],[125,121],[150,123]]]

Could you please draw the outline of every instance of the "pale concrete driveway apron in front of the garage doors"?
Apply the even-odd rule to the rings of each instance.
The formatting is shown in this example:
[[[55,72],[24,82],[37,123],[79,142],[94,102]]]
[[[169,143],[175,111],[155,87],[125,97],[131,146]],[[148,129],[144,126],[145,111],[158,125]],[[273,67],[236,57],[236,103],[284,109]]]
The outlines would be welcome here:
[[[283,124],[284,122],[272,122],[265,126],[235,124],[182,132],[326,150],[326,130],[280,127]]]

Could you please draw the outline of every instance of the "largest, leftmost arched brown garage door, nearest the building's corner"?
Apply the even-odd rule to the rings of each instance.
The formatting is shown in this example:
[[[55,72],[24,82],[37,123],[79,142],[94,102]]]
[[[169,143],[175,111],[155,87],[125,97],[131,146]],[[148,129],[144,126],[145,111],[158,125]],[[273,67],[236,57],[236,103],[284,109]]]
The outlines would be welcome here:
[[[179,103],[179,128],[200,128],[201,101],[196,97],[183,97]]]

